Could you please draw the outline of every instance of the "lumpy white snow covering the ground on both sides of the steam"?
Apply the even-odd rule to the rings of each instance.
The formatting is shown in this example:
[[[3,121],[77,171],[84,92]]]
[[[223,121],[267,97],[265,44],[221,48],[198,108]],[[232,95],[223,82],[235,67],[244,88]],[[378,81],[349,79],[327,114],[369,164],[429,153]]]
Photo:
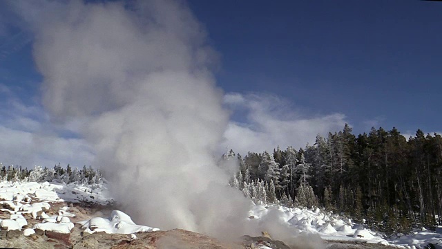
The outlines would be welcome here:
[[[25,236],[35,233],[36,229],[51,230],[60,233],[70,233],[74,223],[70,218],[74,214],[68,207],[59,208],[57,214],[48,215],[50,203],[54,202],[98,203],[106,205],[113,202],[106,184],[102,185],[77,185],[71,183],[10,183],[0,182],[0,211],[10,213],[9,219],[0,220],[1,229],[22,230],[28,225],[23,214],[31,214],[32,219],[39,220],[32,228],[23,230]],[[435,248],[442,248],[442,228],[436,231],[425,229],[414,230],[412,234],[397,238],[384,238],[376,231],[368,230],[364,225],[354,223],[342,216],[323,212],[322,210],[307,210],[305,208],[285,208],[277,205],[251,205],[249,216],[244,217],[244,222],[265,222],[269,219],[278,220],[278,224],[285,226],[293,234],[314,233],[327,240],[337,241],[367,241],[367,243],[381,243],[397,246],[398,248],[424,248],[428,243],[433,243]],[[157,228],[135,224],[131,217],[124,212],[114,210],[109,217],[93,217],[86,221],[77,222],[84,232],[106,232],[133,234],[135,232],[151,232]]]

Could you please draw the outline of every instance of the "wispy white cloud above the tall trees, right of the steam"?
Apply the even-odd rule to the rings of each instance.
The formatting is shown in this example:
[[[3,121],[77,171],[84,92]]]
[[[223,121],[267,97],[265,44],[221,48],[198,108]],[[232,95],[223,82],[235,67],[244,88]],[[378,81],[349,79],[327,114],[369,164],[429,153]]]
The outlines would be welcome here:
[[[325,136],[329,131],[343,129],[346,123],[341,113],[303,113],[276,95],[228,93],[224,104],[233,112],[245,111],[244,120],[229,122],[222,143],[223,148],[243,155],[248,151],[272,151],[278,145],[282,149],[289,145],[305,147],[315,142],[318,133]]]

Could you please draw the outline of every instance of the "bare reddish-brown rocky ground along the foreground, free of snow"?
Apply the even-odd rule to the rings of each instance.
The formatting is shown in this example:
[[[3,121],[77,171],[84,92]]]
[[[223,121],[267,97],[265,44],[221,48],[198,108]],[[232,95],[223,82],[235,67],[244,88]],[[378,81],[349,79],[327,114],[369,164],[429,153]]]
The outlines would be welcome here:
[[[69,207],[69,212],[75,214],[70,221],[75,223],[75,227],[69,234],[58,232],[36,230],[35,234],[28,237],[23,236],[23,230],[32,228],[36,223],[40,223],[39,219],[32,219],[31,214],[23,214],[28,221],[28,225],[19,230],[0,230],[0,247],[2,248],[158,248],[158,249],[187,249],[187,248],[218,248],[218,249],[236,249],[236,248],[267,248],[273,249],[308,249],[305,245],[287,246],[282,241],[276,241],[267,236],[249,237],[244,236],[238,241],[220,241],[204,234],[190,232],[186,230],[169,230],[157,232],[137,233],[136,239],[131,239],[130,234],[106,234],[98,232],[88,234],[83,232],[79,221],[88,220],[93,216],[108,216],[116,207],[112,205],[98,205],[92,203],[66,203],[54,202],[50,203],[50,209],[43,210],[48,215],[57,214],[60,208]],[[3,206],[1,208],[8,208]],[[41,212],[39,212],[41,214]],[[37,215],[39,215],[37,214]],[[0,212],[0,219],[9,219],[8,212]],[[311,246],[309,246],[311,248]],[[316,247],[315,247],[316,248]],[[324,248],[392,248],[390,246],[382,246],[378,244],[356,243],[352,241],[325,241]],[[313,248],[312,248],[313,249]]]

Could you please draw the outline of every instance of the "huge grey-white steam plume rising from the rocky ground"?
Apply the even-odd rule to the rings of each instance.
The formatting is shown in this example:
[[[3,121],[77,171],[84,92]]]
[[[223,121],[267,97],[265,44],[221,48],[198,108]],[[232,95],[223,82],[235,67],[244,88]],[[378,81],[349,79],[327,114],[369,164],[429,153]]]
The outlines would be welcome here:
[[[249,202],[213,155],[229,121],[210,71],[218,58],[189,9],[72,1],[38,16],[44,106],[56,122],[81,120],[126,211],[162,229],[240,228]]]

